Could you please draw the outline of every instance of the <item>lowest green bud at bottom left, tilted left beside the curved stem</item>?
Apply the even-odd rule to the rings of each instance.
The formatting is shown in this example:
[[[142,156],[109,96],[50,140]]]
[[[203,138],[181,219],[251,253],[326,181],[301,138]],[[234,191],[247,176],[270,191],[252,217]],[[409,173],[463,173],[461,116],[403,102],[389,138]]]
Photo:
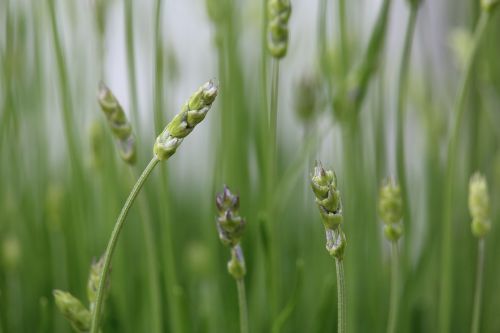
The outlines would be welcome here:
[[[77,332],[90,331],[91,314],[82,302],[70,293],[61,290],[54,290],[53,294],[57,308],[68,319],[71,326]]]

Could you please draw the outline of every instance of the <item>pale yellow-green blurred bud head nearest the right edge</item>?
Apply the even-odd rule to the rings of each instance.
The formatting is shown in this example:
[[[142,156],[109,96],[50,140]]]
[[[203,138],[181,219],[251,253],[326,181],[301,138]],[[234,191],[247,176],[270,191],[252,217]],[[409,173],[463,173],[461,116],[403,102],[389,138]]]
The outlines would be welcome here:
[[[491,228],[490,197],[486,179],[480,173],[475,173],[469,182],[469,211],[472,216],[472,234],[478,238],[484,237]]]

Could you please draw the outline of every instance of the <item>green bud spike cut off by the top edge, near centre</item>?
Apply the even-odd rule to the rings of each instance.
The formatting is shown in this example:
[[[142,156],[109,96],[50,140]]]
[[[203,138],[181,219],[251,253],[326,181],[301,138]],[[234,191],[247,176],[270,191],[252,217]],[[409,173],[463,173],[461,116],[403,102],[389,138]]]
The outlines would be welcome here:
[[[274,58],[283,58],[288,49],[288,20],[292,12],[290,0],[269,0],[267,9],[267,48]]]

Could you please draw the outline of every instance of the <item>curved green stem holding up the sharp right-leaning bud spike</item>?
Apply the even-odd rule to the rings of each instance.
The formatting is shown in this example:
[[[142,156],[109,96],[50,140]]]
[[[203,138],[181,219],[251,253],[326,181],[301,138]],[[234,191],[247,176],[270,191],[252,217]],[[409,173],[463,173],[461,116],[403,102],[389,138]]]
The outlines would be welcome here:
[[[116,220],[115,226],[113,228],[113,232],[111,233],[111,238],[109,239],[108,246],[106,247],[106,253],[104,257],[104,265],[102,268],[102,273],[99,278],[99,289],[97,290],[97,298],[96,298],[96,303],[95,303],[95,308],[94,312],[92,314],[92,326],[91,326],[91,333],[98,333],[99,332],[99,321],[100,321],[100,315],[101,315],[101,308],[102,308],[102,302],[104,298],[104,289],[106,287],[106,281],[109,275],[109,268],[111,264],[111,259],[113,257],[114,250],[116,248],[116,244],[118,242],[118,236],[120,235],[120,231],[123,227],[123,224],[125,222],[125,218],[128,215],[128,211],[130,210],[130,207],[132,207],[132,204],[134,203],[135,198],[139,194],[142,186],[144,185],[144,182],[146,179],[149,177],[151,174],[151,171],[153,171],[154,167],[156,164],[158,164],[159,160],[156,158],[156,155],[151,159],[149,164],[146,166],[144,171],[142,172],[141,176],[137,180],[137,183],[135,183],[134,187],[132,188],[132,191],[130,192],[127,201],[125,201],[125,205],[123,205],[123,208],[120,212],[120,215],[118,216],[118,219]]]

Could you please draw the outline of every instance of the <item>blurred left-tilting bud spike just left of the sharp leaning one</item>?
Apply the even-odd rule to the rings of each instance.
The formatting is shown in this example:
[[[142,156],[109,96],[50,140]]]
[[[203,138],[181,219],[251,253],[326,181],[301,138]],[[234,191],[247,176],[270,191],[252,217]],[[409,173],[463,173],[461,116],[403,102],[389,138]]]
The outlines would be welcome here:
[[[109,127],[116,138],[121,158],[129,164],[134,164],[136,160],[136,148],[132,126],[127,120],[127,115],[118,100],[102,81],[99,84],[97,99],[102,111],[106,115]]]

